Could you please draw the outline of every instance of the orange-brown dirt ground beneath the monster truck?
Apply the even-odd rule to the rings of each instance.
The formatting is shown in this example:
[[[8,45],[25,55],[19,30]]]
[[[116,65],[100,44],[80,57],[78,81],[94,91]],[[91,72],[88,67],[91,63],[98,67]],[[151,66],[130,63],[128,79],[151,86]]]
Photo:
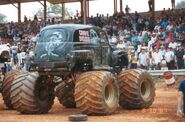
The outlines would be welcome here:
[[[176,116],[177,90],[166,89],[162,83],[156,84],[156,97],[149,109],[123,110],[119,108],[109,116],[89,116],[88,122],[185,122]],[[15,110],[7,110],[0,95],[0,122],[68,122],[68,116],[79,114],[78,109],[66,109],[55,99],[48,114],[21,115]]]

